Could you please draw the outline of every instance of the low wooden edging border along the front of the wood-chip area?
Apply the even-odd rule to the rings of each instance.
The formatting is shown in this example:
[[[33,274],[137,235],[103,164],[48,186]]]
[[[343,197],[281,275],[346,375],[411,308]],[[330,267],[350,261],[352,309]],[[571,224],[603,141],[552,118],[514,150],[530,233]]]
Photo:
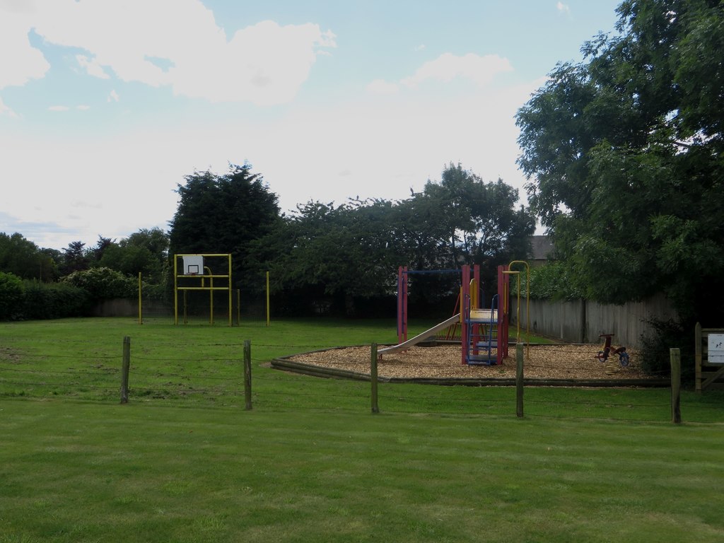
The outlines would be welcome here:
[[[343,349],[337,347],[334,349]],[[312,353],[322,352],[311,351]],[[271,367],[282,371],[308,375],[312,377],[324,377],[327,379],[350,379],[353,381],[370,381],[370,374],[362,374],[357,371],[346,369],[326,368],[303,362],[289,360],[288,355],[274,358]],[[418,383],[418,384],[439,384],[444,386],[462,385],[467,387],[515,387],[515,377],[384,377],[378,376],[377,380],[383,383]],[[523,384],[528,387],[670,387],[669,379],[523,379]]]

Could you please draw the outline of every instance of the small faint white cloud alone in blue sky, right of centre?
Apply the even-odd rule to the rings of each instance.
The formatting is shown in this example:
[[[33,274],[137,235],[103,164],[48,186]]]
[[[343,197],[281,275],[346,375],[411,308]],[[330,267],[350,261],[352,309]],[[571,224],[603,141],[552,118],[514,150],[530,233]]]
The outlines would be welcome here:
[[[432,61],[426,62],[411,77],[405,77],[400,81],[408,87],[415,87],[426,80],[437,80],[449,83],[455,77],[464,77],[472,80],[479,87],[484,87],[500,72],[510,72],[508,59],[498,55],[479,56],[468,53],[464,56],[456,56],[445,53]]]

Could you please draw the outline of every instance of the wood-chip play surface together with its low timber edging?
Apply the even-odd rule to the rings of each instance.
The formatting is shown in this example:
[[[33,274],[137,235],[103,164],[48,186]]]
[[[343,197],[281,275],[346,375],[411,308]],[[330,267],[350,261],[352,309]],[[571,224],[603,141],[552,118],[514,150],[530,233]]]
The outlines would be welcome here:
[[[272,366],[319,376],[369,378],[370,349],[366,345],[303,353],[277,359]],[[600,349],[601,345],[530,345],[523,348],[525,379],[588,386],[614,386],[618,382],[624,386],[663,384],[661,379],[644,374],[635,349],[627,350],[630,362],[625,367],[618,363],[618,356],[612,356],[607,363],[599,361],[595,355]],[[414,346],[384,354],[377,372],[380,379],[390,380],[482,379],[491,380],[489,384],[495,384],[494,380],[510,384],[515,379],[515,348],[510,348],[510,358],[502,365],[468,366],[460,362],[460,345]]]

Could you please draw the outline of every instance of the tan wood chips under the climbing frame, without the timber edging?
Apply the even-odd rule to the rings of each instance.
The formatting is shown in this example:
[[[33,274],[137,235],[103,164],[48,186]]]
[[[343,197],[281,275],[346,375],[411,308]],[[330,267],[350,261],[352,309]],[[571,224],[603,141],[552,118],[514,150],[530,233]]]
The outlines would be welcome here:
[[[621,367],[618,355],[602,363],[595,356],[601,345],[531,345],[524,349],[526,378],[533,379],[646,379],[639,353],[627,349],[630,363]],[[527,352],[526,352],[527,351]],[[370,347],[348,347],[304,353],[292,361],[326,368],[369,374]],[[467,366],[460,363],[460,345],[415,346],[400,353],[385,354],[377,365],[384,377],[515,378],[515,348],[500,366]]]

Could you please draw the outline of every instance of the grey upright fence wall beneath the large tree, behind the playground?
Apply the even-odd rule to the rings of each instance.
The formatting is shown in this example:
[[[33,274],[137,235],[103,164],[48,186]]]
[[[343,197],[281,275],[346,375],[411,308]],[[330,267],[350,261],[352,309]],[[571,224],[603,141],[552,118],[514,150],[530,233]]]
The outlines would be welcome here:
[[[517,313],[517,299],[511,300],[511,316]],[[637,348],[641,334],[649,332],[649,319],[676,319],[676,313],[663,295],[643,302],[608,306],[596,302],[551,302],[531,300],[531,333],[575,343],[598,343],[599,334],[615,334],[615,345]],[[521,299],[521,331],[526,327],[526,300]],[[511,336],[513,335],[511,330]]]

